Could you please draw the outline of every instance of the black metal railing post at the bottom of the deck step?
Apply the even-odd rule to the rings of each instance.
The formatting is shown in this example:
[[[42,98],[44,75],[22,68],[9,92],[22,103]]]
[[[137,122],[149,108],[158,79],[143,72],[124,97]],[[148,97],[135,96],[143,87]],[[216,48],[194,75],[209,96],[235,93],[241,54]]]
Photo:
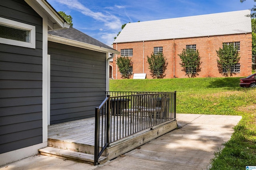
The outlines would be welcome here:
[[[95,107],[95,141],[94,141],[94,165],[98,164],[99,154],[99,107]]]

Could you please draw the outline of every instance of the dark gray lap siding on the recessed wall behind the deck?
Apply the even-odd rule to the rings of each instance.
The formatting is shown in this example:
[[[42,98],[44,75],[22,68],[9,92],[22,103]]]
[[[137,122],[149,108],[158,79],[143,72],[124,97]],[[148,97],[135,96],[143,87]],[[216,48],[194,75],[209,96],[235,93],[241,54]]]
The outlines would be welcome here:
[[[50,123],[92,117],[105,99],[106,54],[48,42],[51,55]]]

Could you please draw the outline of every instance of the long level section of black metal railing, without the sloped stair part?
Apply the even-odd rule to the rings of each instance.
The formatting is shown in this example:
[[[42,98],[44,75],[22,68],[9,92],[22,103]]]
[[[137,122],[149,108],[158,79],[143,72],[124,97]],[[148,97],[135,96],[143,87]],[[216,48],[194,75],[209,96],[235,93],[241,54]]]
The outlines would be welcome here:
[[[110,92],[110,143],[176,118],[176,92]],[[118,95],[124,96],[118,96]]]

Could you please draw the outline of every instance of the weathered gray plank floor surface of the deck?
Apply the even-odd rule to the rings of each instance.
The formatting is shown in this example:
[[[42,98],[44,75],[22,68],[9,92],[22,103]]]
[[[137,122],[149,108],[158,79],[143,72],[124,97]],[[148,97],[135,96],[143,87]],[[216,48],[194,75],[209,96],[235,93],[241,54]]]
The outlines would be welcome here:
[[[112,116],[111,140],[128,137],[135,131],[149,127],[148,119],[131,119],[131,117]],[[80,143],[94,146],[95,118],[81,119],[48,126],[48,139]],[[101,136],[101,135],[100,135]]]

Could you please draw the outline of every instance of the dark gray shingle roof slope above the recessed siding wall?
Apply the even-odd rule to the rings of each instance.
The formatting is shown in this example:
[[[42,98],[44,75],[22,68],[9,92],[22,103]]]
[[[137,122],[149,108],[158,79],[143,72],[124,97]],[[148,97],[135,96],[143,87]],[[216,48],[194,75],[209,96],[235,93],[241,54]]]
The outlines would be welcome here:
[[[73,27],[70,27],[68,29],[58,29],[58,30],[48,31],[48,34],[56,35],[59,37],[72,39],[75,41],[80,41],[83,43],[96,45],[98,47],[104,47],[106,49],[114,50],[113,48],[109,47],[108,45],[90,37],[89,35],[86,35],[85,33],[82,33],[81,31],[79,31]]]

